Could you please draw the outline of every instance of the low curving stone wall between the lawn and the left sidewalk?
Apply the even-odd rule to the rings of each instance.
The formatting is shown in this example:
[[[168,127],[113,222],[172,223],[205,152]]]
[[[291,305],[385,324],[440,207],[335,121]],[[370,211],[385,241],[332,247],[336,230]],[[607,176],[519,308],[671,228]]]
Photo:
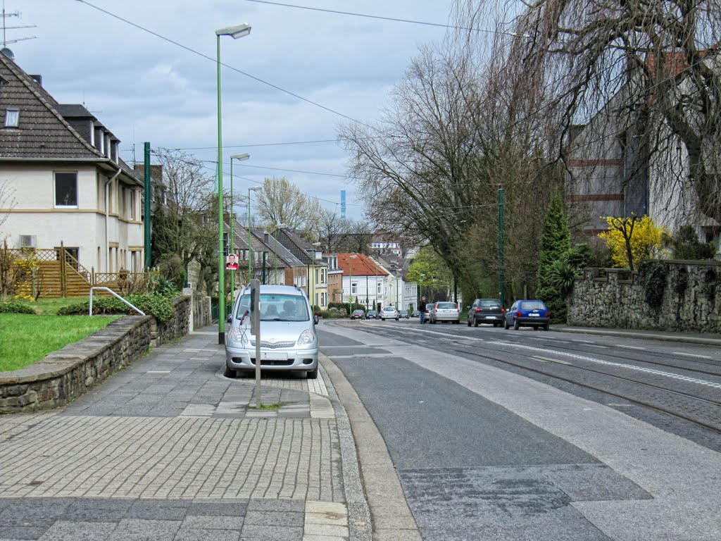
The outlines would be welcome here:
[[[113,372],[140,359],[151,343],[159,346],[186,335],[190,297],[174,299],[174,304],[175,314],[167,322],[128,315],[30,366],[0,372],[0,413],[66,405]]]

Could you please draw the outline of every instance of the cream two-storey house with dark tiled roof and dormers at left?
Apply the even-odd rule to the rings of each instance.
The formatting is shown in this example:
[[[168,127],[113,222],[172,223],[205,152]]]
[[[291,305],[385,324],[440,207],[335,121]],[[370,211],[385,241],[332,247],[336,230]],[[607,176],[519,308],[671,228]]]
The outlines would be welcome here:
[[[41,83],[0,54],[0,182],[15,203],[0,208],[0,234],[10,247],[63,245],[94,271],[141,271],[142,182],[120,159],[120,140]]]

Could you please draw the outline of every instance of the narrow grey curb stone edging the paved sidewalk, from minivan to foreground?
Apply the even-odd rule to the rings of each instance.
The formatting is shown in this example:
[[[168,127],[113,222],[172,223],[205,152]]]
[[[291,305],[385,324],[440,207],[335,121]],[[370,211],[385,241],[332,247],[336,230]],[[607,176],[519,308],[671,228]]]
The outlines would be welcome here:
[[[319,353],[319,361],[325,356]],[[322,366],[322,365],[321,365]],[[328,390],[328,395],[335,410],[335,418],[340,441],[340,457],[343,470],[343,488],[345,490],[345,501],[348,504],[348,531],[349,541],[371,541],[373,537],[373,524],[371,522],[371,509],[368,507],[363,483],[361,482],[361,470],[358,465],[358,453],[355,450],[355,439],[353,431],[350,430],[348,413],[340,402],[335,387],[325,367],[321,374]]]

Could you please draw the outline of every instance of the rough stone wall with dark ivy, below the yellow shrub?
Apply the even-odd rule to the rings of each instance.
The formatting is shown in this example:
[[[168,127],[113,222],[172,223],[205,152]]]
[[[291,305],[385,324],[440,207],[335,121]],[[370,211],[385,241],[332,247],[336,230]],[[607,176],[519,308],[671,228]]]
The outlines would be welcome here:
[[[587,268],[576,279],[568,299],[568,324],[583,327],[721,333],[721,287],[708,282],[721,276],[715,261],[666,261],[670,271],[660,309],[645,302],[637,273],[619,268]],[[679,276],[686,286],[678,287]],[[682,291],[682,292],[681,292]]]

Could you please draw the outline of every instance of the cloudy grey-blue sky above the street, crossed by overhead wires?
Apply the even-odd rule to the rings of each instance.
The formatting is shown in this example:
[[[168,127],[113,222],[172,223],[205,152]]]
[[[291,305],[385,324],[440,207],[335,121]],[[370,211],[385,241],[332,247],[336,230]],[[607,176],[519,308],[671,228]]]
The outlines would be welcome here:
[[[440,24],[449,23],[451,2],[282,1]],[[122,141],[125,161],[141,162],[143,141],[149,141],[154,148],[187,149],[207,160],[209,175],[216,167],[216,29],[252,25],[245,38],[221,38],[221,61],[231,68],[363,122],[379,118],[418,47],[440,43],[446,35],[442,27],[249,0],[4,3],[6,12],[20,12],[6,17],[8,27],[36,25],[7,30],[8,42],[37,37],[9,43],[15,61],[27,73],[41,74],[59,102],[82,103],[94,113]],[[344,176],[347,156],[339,144],[278,145],[335,140],[338,123],[348,120],[227,68],[222,100],[226,184],[230,154],[249,152],[248,161],[234,162],[234,189],[244,192],[264,177],[285,176],[339,214],[345,189],[347,216],[363,217],[363,201]]]

